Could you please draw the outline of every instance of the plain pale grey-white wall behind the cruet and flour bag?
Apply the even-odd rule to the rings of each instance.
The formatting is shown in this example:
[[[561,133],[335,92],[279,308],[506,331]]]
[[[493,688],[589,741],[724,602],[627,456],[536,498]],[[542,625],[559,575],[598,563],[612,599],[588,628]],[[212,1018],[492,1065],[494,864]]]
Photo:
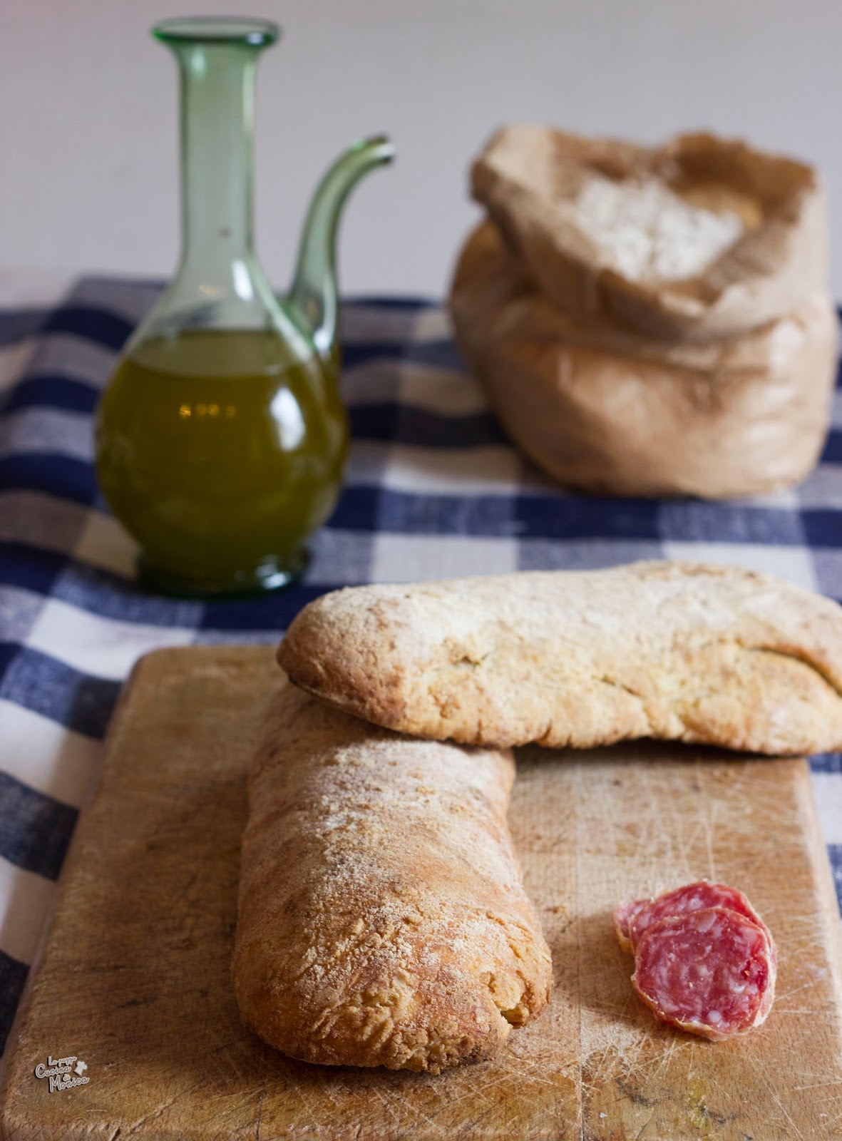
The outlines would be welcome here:
[[[0,269],[169,275],[176,67],[156,19],[276,19],[259,67],[257,241],[290,273],[311,187],[388,131],[343,225],[346,292],[439,294],[476,217],[465,169],[505,121],[655,141],[710,127],[825,173],[842,298],[842,0],[6,0]]]

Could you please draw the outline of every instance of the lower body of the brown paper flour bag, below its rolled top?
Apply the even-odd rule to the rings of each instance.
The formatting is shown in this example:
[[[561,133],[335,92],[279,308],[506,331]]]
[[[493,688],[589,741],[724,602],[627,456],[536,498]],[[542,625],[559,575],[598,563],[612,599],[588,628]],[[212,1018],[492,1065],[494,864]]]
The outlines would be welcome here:
[[[730,340],[655,341],[578,321],[485,224],[451,291],[460,349],[513,440],[569,486],[746,495],[798,483],[829,416],[836,315],[811,283],[786,316]]]

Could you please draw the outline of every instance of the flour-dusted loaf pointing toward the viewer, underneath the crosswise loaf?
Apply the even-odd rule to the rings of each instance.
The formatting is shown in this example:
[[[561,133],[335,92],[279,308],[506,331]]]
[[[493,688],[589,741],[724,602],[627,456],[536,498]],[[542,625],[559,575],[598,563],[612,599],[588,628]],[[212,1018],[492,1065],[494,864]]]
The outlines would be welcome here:
[[[234,981],[292,1058],[494,1057],[552,973],[505,822],[511,753],[413,741],[284,685],[249,780]]]

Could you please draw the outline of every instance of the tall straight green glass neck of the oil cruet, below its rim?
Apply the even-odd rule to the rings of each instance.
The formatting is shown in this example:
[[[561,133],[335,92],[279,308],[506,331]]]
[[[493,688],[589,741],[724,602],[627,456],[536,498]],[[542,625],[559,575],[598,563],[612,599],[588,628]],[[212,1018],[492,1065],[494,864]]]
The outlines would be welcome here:
[[[180,268],[200,270],[210,289],[236,289],[237,262],[252,252],[256,57],[230,44],[193,43],[178,51]]]

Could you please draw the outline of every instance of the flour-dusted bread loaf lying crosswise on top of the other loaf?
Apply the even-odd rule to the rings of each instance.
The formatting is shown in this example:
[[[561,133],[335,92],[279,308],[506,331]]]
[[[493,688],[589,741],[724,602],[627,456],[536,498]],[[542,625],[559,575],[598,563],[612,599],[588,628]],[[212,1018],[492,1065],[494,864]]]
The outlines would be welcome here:
[[[842,608],[742,567],[351,588],[306,606],[278,661],[327,702],[439,741],[655,737],[772,755],[842,745]]]

